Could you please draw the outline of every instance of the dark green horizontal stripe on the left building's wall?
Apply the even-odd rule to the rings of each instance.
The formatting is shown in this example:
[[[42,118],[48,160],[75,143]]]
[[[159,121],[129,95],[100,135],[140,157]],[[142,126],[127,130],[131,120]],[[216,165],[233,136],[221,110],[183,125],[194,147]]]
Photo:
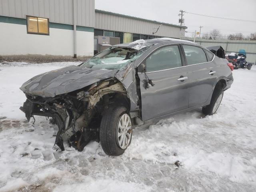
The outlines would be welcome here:
[[[0,22],[20,24],[20,25],[26,25],[27,24],[26,19],[24,19],[24,18],[7,17],[7,16],[0,16]],[[62,23],[53,23],[53,22],[49,22],[49,28],[74,30],[73,25],[62,24]],[[77,31],[94,32],[94,28],[85,27],[85,26],[76,26],[76,30]]]

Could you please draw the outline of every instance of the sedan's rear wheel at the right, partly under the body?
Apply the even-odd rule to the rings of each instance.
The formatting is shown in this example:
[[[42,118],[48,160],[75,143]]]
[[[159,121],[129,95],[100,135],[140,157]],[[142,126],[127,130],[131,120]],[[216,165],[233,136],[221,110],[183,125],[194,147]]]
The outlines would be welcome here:
[[[212,99],[209,105],[202,108],[203,114],[213,115],[218,110],[223,98],[224,91],[222,88],[216,88],[212,94]]]

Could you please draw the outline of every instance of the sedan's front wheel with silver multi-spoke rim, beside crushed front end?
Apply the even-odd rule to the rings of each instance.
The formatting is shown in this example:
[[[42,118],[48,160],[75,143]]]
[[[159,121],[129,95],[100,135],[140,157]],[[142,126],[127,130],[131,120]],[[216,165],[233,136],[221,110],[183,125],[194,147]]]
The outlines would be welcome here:
[[[104,111],[100,123],[100,143],[103,151],[107,155],[122,155],[130,145],[131,140],[132,119],[127,108],[112,104]]]

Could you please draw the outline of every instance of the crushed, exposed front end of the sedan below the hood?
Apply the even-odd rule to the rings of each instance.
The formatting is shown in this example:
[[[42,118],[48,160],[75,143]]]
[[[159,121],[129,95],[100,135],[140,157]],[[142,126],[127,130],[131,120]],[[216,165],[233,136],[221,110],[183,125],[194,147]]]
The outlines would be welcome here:
[[[82,151],[90,140],[99,141],[104,108],[122,96],[126,96],[122,83],[116,78],[108,78],[54,97],[26,94],[27,100],[20,110],[28,121],[34,116],[51,117],[58,126],[55,144],[63,151],[63,142],[68,142]]]

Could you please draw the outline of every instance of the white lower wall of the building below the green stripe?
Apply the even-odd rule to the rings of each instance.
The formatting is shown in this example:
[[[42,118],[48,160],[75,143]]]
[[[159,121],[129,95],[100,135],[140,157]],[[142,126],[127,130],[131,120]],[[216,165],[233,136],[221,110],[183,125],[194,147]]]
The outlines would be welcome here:
[[[0,22],[0,55],[74,56],[73,30],[50,28],[50,35],[27,34],[26,25]],[[77,31],[77,56],[93,55],[93,32]]]

